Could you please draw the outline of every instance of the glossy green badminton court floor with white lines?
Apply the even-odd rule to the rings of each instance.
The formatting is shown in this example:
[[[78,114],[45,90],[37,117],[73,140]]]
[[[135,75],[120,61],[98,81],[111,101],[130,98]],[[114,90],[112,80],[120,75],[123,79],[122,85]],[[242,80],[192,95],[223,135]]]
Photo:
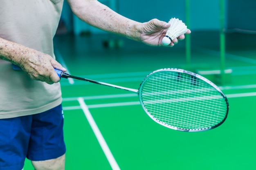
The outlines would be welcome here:
[[[236,37],[244,43],[235,42]],[[218,75],[208,77],[227,95],[230,110],[213,130],[165,128],[144,113],[134,93],[62,79],[66,170],[255,170],[256,36],[226,38],[226,68],[232,73],[225,83]],[[58,35],[54,43],[57,60],[70,74],[135,89],[159,68],[220,69],[216,32],[191,34],[190,67],[185,40],[168,48],[115,35]],[[24,170],[33,170],[30,161]]]

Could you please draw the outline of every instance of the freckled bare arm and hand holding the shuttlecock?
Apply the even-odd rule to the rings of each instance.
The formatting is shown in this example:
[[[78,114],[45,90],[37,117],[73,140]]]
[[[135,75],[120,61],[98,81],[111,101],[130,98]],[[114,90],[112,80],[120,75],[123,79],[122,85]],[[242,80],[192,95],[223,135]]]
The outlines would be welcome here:
[[[130,20],[97,0],[67,0],[67,2],[73,13],[84,22],[148,45],[162,46],[162,38],[170,26],[167,22],[157,19],[144,23]],[[190,33],[189,29],[187,33]],[[184,38],[184,35],[180,35],[178,39]],[[173,46],[177,42],[178,40],[174,39],[169,46]]]

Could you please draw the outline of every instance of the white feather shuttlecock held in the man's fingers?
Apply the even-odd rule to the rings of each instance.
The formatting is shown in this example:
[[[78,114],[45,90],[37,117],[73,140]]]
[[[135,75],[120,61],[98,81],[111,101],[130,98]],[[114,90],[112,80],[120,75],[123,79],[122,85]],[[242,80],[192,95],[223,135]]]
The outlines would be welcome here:
[[[188,31],[182,20],[171,18],[168,23],[170,23],[171,26],[167,29],[166,35],[162,40],[164,45],[169,45],[174,38],[177,38]]]

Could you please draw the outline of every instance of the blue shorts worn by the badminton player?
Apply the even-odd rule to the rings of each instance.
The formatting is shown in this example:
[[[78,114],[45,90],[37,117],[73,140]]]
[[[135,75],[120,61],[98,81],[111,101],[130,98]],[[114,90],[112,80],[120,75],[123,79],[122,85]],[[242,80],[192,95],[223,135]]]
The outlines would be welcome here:
[[[66,152],[62,106],[36,115],[0,119],[0,170],[21,170],[25,158],[43,161]]]

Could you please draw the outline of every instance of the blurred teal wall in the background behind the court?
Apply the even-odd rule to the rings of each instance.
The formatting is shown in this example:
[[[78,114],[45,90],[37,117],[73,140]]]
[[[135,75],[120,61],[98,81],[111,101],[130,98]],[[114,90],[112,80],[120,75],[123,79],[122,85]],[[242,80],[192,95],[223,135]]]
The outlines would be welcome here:
[[[153,18],[168,21],[175,17],[186,22],[186,0],[99,0],[121,15],[139,22]],[[190,29],[219,30],[220,29],[220,0],[190,0]],[[242,7],[242,8],[240,8]],[[225,0],[225,27],[242,27],[256,30],[256,0]],[[67,2],[64,2],[61,18],[68,32],[79,34],[83,31],[104,33],[83,23],[72,14]]]

